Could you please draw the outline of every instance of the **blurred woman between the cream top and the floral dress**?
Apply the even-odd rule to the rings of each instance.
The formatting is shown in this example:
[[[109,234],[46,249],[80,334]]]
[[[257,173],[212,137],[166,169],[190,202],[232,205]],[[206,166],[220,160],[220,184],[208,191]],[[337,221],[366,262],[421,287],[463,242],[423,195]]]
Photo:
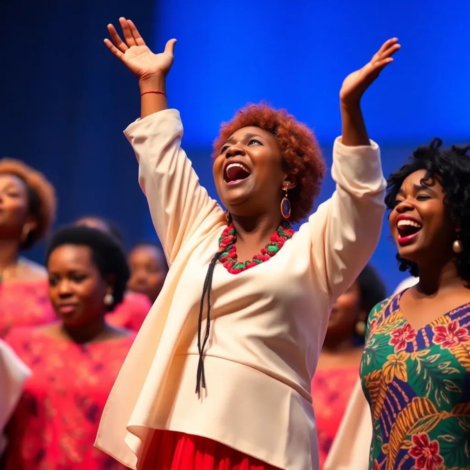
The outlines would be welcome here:
[[[312,380],[320,468],[323,467],[359,376],[366,320],[386,297],[376,270],[367,265],[331,310],[318,367]]]

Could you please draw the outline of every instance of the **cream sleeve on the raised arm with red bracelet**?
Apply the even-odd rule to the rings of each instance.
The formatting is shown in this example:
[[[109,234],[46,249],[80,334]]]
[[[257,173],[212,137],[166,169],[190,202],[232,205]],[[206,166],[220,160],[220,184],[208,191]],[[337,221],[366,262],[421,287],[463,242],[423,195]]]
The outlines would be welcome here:
[[[124,131],[139,162],[139,184],[171,264],[181,246],[214,210],[223,211],[199,184],[181,149],[183,125],[177,110],[163,110]]]

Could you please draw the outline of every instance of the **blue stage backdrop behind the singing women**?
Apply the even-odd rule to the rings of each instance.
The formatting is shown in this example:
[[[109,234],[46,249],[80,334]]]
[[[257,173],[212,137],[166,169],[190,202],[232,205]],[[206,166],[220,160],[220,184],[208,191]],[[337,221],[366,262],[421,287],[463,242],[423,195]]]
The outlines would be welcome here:
[[[83,0],[0,2],[0,156],[45,172],[59,196],[57,224],[107,215],[128,245],[154,238],[122,130],[139,115],[135,79],[102,44],[106,24],[132,18],[155,49],[175,37],[168,98],[181,112],[183,145],[217,197],[211,142],[219,123],[266,99],[310,125],[331,165],[345,76],[397,36],[402,49],[364,99],[384,172],[439,135],[470,140],[470,1]],[[334,187],[327,176],[317,203]],[[403,277],[384,230],[372,263],[389,290]],[[30,253],[41,261],[43,246]]]

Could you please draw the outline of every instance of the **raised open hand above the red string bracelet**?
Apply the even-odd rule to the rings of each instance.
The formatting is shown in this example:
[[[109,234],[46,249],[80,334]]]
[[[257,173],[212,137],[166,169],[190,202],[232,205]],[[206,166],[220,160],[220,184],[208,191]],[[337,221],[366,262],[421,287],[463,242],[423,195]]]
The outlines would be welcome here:
[[[173,49],[176,39],[170,39],[165,50],[154,54],[131,20],[119,18],[125,42],[119,37],[116,28],[108,24],[112,42],[104,39],[110,51],[118,57],[139,78],[140,82],[152,81],[155,78],[164,79],[173,63]]]

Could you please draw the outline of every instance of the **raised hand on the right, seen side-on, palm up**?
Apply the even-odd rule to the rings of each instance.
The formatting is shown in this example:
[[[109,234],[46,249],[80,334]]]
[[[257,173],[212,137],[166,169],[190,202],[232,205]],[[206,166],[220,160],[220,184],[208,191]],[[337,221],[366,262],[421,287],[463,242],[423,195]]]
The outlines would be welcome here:
[[[398,51],[398,39],[385,41],[382,47],[372,56],[370,62],[355,72],[350,73],[343,82],[339,98],[344,105],[359,105],[360,98],[368,86],[379,76],[384,67],[393,61],[392,55]]]

